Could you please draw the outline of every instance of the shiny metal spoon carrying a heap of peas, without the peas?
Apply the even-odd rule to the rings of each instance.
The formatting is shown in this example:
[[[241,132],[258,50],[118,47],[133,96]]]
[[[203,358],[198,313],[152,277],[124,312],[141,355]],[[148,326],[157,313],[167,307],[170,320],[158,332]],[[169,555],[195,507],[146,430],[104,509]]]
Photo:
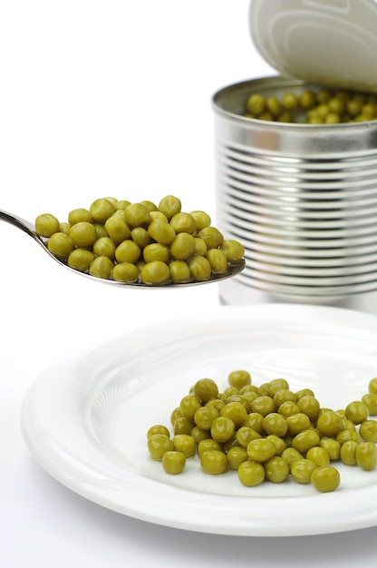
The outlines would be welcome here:
[[[245,260],[241,260],[240,262],[238,262],[237,264],[229,264],[227,267],[227,271],[226,272],[222,272],[219,274],[211,274],[211,277],[208,280],[202,280],[202,281],[191,281],[191,282],[186,282],[183,284],[175,284],[173,282],[169,282],[167,284],[161,284],[161,285],[149,285],[149,284],[143,284],[140,281],[136,281],[136,282],[118,282],[116,280],[111,280],[111,279],[101,279],[98,278],[96,276],[92,276],[90,274],[86,274],[84,272],[80,272],[80,270],[76,270],[71,268],[70,266],[68,266],[68,264],[66,264],[63,260],[59,260],[57,259],[55,256],[53,256],[53,253],[48,250],[45,241],[42,239],[42,237],[40,237],[39,235],[36,234],[35,232],[35,226],[32,222],[28,221],[28,220],[24,220],[21,217],[17,217],[15,215],[13,215],[12,213],[8,213],[7,211],[1,210],[0,209],[0,220],[5,220],[5,222],[10,223],[11,225],[14,225],[14,227],[17,227],[18,229],[24,230],[24,232],[29,235],[30,237],[33,237],[33,239],[39,244],[41,245],[41,247],[43,248],[44,252],[47,252],[48,255],[50,255],[50,257],[55,260],[56,262],[58,262],[61,266],[63,266],[65,269],[70,269],[73,272],[75,272],[76,274],[81,274],[82,276],[86,276],[87,278],[90,279],[96,279],[96,280],[100,280],[102,282],[105,282],[107,284],[111,284],[113,286],[128,286],[128,287],[134,287],[134,288],[182,288],[182,287],[187,287],[187,286],[196,286],[198,284],[208,284],[210,282],[218,282],[219,280],[223,280],[223,279],[228,279],[231,278],[233,276],[236,276],[239,272],[241,272],[243,269],[245,269]]]

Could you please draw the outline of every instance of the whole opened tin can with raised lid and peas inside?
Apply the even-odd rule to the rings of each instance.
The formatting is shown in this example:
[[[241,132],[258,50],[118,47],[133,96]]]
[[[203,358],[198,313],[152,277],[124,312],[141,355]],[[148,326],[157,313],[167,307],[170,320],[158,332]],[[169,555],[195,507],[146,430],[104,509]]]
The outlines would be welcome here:
[[[377,39],[367,31],[377,3],[273,9],[254,0],[250,30],[282,74],[228,85],[212,102],[218,225],[247,260],[221,299],[377,313]],[[345,53],[361,53],[344,58],[345,39]]]

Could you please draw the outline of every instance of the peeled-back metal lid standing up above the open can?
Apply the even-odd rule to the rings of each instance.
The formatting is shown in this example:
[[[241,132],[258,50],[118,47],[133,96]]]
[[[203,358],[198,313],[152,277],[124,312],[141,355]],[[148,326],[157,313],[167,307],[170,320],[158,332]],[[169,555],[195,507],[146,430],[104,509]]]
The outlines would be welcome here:
[[[377,0],[252,0],[249,30],[282,75],[377,93]]]

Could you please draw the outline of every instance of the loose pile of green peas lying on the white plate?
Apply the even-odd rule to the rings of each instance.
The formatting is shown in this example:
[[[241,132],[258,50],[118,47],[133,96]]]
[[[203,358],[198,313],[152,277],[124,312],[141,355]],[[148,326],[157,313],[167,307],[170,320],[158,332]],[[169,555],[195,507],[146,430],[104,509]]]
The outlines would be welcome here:
[[[170,425],[150,426],[150,458],[170,475],[198,459],[208,475],[237,471],[247,487],[294,480],[321,493],[336,490],[336,462],[372,471],[377,466],[377,377],[360,400],[342,410],[321,406],[310,388],[291,390],[285,378],[259,387],[234,370],[223,392],[200,378],[173,409]]]

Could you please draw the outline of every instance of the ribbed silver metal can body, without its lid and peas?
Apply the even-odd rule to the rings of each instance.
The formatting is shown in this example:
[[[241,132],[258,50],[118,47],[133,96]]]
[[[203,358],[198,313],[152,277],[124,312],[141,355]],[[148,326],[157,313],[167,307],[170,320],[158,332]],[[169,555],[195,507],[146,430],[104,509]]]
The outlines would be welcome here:
[[[245,116],[252,93],[318,90],[280,76],[213,97],[217,222],[247,268],[225,303],[289,301],[377,311],[377,121],[307,124]]]

